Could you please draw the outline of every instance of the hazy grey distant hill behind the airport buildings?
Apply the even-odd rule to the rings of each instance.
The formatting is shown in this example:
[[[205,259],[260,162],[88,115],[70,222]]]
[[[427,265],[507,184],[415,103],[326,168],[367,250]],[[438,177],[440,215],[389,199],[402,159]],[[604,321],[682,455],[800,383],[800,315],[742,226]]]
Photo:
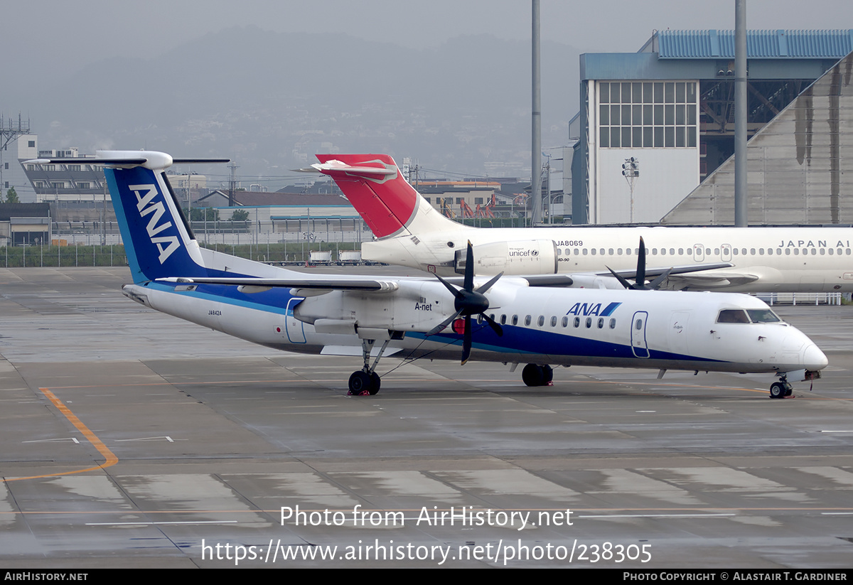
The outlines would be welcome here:
[[[577,49],[543,43],[543,148],[567,142],[577,64]],[[29,113],[41,148],[229,156],[251,182],[290,175],[328,151],[528,176],[530,68],[529,42],[485,34],[415,50],[247,26],[153,60],[58,68],[36,87],[4,93],[8,107],[18,101]],[[228,173],[211,171],[201,172],[214,180]]]

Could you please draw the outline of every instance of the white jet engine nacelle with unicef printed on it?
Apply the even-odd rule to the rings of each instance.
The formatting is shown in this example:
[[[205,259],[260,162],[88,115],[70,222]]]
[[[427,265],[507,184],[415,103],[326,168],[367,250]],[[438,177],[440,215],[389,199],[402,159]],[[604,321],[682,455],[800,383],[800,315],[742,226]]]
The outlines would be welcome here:
[[[474,274],[557,274],[557,245],[554,240],[496,241],[473,246]],[[465,249],[456,251],[456,272],[465,273]]]

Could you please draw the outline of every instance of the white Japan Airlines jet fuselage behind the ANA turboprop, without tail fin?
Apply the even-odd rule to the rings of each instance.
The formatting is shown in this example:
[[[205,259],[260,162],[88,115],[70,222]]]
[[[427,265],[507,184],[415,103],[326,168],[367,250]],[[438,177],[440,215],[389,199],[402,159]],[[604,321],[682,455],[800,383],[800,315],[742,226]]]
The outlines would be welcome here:
[[[853,291],[850,228],[527,228],[444,229],[365,242],[366,260],[453,274],[470,240],[478,275],[606,273],[635,269],[642,236],[647,269],[702,264],[731,267],[670,277],[666,287],[728,292]],[[608,279],[613,280],[613,279]],[[590,282],[585,286],[595,286]]]

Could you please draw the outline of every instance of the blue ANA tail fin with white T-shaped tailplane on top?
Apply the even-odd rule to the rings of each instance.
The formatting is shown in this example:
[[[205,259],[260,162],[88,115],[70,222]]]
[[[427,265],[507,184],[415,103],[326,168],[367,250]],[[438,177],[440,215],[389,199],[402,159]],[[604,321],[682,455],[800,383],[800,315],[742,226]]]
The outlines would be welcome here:
[[[113,208],[136,283],[170,276],[206,276],[198,242],[171,189],[165,170],[173,163],[228,162],[172,159],[151,151],[98,151],[87,163],[104,165]],[[79,164],[81,159],[36,159],[38,164]]]

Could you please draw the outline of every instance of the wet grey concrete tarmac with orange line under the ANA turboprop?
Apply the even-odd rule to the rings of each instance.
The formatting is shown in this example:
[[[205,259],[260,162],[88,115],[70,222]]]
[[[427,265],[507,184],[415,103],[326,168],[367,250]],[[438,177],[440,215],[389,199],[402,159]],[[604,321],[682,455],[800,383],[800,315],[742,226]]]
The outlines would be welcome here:
[[[347,397],[360,360],[161,315],[128,280],[0,269],[5,568],[851,566],[849,306],[776,308],[830,361],[786,400],[769,375],[530,389],[393,357]]]

